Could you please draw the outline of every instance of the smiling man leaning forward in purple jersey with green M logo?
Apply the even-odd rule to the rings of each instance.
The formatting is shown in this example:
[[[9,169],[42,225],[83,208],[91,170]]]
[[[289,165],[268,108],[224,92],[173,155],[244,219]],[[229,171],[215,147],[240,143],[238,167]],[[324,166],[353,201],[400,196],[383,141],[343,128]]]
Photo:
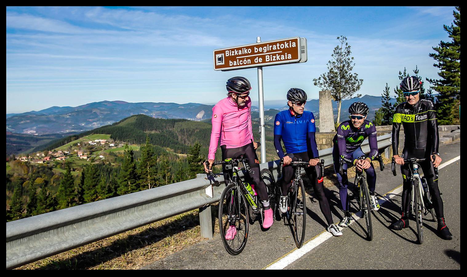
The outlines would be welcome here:
[[[370,201],[375,211],[379,210],[380,206],[375,197],[376,172],[371,163],[378,155],[378,142],[376,140],[376,128],[370,121],[366,120],[369,109],[367,104],[355,102],[349,107],[351,114],[350,120],[342,122],[337,128],[337,134],[334,136],[333,161],[334,171],[339,182],[339,195],[344,218],[339,222],[339,226],[348,227],[350,223],[350,213],[348,212],[347,200],[347,163],[354,164],[359,170],[367,170],[368,190],[370,191]],[[370,154],[364,160],[357,160],[358,157],[364,156],[365,153],[361,150],[361,143],[368,137],[370,145]],[[339,172],[340,157],[347,163],[343,165],[344,174],[341,176]]]

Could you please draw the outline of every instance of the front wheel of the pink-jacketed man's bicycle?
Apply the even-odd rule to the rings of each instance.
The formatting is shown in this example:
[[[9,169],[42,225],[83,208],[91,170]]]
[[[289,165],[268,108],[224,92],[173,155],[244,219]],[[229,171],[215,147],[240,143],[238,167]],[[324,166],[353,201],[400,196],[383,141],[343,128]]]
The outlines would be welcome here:
[[[248,238],[248,207],[245,196],[235,183],[226,186],[219,202],[219,231],[224,247],[230,255],[238,255],[245,248]],[[234,226],[236,234],[226,240],[226,232]]]

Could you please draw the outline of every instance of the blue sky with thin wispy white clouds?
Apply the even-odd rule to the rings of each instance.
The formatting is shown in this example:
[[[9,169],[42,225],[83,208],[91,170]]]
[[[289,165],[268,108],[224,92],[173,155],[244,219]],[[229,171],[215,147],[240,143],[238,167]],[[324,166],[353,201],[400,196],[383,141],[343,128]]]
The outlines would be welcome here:
[[[454,7],[7,7],[7,114],[103,100],[215,103],[226,79],[212,51],[305,37],[308,61],[263,68],[265,100],[290,87],[317,99],[337,36],[347,36],[359,93],[391,91],[404,67],[438,78],[432,46],[449,40]],[[425,84],[425,88],[427,85]],[[393,95],[391,95],[393,96]]]

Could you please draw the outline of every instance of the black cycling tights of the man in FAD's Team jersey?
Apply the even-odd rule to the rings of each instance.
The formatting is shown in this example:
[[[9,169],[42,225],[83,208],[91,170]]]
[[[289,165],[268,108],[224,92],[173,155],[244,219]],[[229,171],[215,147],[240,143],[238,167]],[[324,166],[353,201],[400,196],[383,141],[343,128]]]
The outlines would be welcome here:
[[[402,157],[404,159],[410,158],[417,158],[423,159],[427,158],[429,160],[425,160],[423,163],[418,163],[422,167],[424,177],[426,178],[426,182],[428,183],[428,189],[430,191],[430,195],[432,196],[433,201],[433,208],[435,210],[436,216],[438,218],[444,217],[443,214],[443,200],[441,200],[441,196],[439,195],[439,187],[438,187],[438,175],[434,172],[433,163],[430,158],[430,153],[425,153],[425,149],[403,149]],[[404,178],[403,182],[403,191],[402,191],[402,213],[404,216],[407,216],[409,213],[410,208],[410,201],[409,198],[410,192],[412,191],[412,184],[409,180],[407,180],[406,176],[410,176],[410,168],[409,163],[405,163],[401,166],[402,177]]]

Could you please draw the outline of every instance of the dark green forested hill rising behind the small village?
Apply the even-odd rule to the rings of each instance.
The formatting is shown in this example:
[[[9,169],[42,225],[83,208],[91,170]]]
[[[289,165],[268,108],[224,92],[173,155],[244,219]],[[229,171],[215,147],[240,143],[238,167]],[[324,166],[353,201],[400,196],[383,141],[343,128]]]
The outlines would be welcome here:
[[[268,122],[266,122],[266,153],[268,160],[276,159],[276,151],[273,144],[274,128],[271,124],[276,111],[272,114],[266,114]],[[259,118],[254,113],[253,115],[253,135],[255,141],[260,141]],[[65,150],[73,144],[86,140],[94,139],[112,139],[115,142],[141,145],[146,142],[146,136],[149,137],[149,142],[153,145],[168,149],[176,154],[188,154],[190,146],[196,142],[201,144],[201,153],[205,156],[208,154],[209,141],[211,137],[210,120],[206,121],[189,121],[185,119],[161,119],[152,118],[144,114],[133,115],[125,118],[112,125],[106,125],[96,128],[92,131],[86,131],[79,135],[69,136],[54,142],[44,145],[42,150]],[[107,149],[105,152],[118,151],[115,149]],[[216,153],[216,158],[220,158],[220,148]],[[260,152],[258,149],[258,156]]]

